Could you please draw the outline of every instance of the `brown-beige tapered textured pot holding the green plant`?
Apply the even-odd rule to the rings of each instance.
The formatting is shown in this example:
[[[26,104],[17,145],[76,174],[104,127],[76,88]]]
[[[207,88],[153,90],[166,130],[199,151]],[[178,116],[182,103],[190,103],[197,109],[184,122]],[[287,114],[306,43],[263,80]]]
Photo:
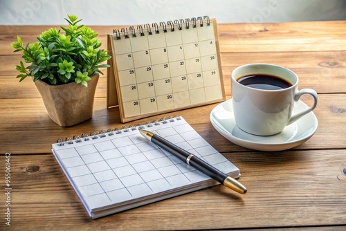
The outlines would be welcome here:
[[[44,101],[49,117],[62,127],[79,124],[93,117],[93,100],[99,75],[93,75],[88,87],[71,82],[49,85],[42,80],[35,81]]]

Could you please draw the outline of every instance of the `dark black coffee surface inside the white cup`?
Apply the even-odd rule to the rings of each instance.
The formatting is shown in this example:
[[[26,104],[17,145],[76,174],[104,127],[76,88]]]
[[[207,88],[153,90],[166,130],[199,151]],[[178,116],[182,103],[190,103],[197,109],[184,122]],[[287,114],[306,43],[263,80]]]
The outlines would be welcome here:
[[[280,90],[292,86],[290,82],[282,79],[281,77],[266,74],[246,75],[239,77],[237,82],[245,86],[250,86],[254,89],[263,90]]]

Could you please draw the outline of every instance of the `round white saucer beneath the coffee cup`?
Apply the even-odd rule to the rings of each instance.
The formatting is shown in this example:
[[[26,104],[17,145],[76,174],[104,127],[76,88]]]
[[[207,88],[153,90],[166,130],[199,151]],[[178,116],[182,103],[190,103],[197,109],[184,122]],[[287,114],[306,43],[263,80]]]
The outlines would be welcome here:
[[[293,115],[307,108],[308,106],[304,102],[295,102]],[[221,136],[230,142],[259,151],[291,149],[309,140],[318,127],[316,115],[311,111],[274,136],[251,135],[239,129],[235,124],[232,99],[222,102],[212,109],[210,121]]]

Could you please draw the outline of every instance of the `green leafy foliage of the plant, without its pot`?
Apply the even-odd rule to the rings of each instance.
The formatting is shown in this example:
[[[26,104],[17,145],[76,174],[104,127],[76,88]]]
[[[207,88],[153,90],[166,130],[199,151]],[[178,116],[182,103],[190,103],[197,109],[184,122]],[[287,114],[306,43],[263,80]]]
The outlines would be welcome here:
[[[108,51],[100,49],[102,41],[96,39],[97,33],[84,25],[78,25],[81,19],[75,15],[68,15],[68,28],[60,30],[51,28],[44,31],[37,42],[25,45],[17,36],[17,42],[11,44],[14,52],[22,51],[24,62],[30,66],[24,66],[23,61],[15,66],[19,71],[19,82],[28,76],[33,80],[42,80],[47,84],[67,84],[76,82],[87,86],[91,76],[101,73],[100,68],[109,67],[102,62],[111,58]]]

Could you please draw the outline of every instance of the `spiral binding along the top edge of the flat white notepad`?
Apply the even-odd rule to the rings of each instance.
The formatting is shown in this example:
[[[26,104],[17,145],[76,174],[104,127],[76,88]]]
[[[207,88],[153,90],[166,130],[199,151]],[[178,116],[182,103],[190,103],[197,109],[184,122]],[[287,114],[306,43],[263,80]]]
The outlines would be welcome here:
[[[73,136],[73,138],[71,138],[70,136],[67,136],[65,138],[65,141],[62,140],[61,138],[57,139],[57,143],[60,146],[64,146],[65,144],[73,145],[73,142],[82,142],[82,140],[88,141],[88,140],[90,140],[90,138],[95,140],[95,139],[98,139],[98,138],[104,138],[106,136],[113,136],[114,133],[120,134],[122,132],[128,132],[130,129],[132,131],[137,130],[137,129],[145,129],[145,127],[158,126],[158,125],[161,124],[161,122],[163,124],[165,124],[167,122],[174,122],[175,120],[181,120],[181,117],[179,115],[175,115],[174,117],[168,116],[167,118],[160,118],[160,120],[154,120],[153,122],[147,121],[147,122],[145,122],[145,124],[138,123],[137,126],[134,125],[134,124],[130,124],[129,127],[122,126],[121,129],[116,127],[114,130],[107,129],[106,132],[104,132],[102,130],[99,131],[99,133],[91,132],[90,136],[88,136],[87,133],[82,133],[82,138],[80,138],[80,136],[78,136],[78,135]]]

